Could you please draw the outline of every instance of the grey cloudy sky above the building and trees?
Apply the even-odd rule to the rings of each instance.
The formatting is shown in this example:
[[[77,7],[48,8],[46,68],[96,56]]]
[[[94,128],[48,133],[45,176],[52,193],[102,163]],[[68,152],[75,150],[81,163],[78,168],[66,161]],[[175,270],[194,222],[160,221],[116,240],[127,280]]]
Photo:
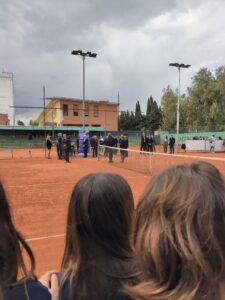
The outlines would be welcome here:
[[[46,96],[82,98],[82,60],[71,50],[96,52],[86,60],[86,98],[117,101],[142,111],[152,95],[177,88],[170,62],[182,70],[181,90],[201,67],[225,64],[224,0],[0,0],[0,68],[14,73],[16,105],[42,105]],[[17,109],[31,119],[36,110]]]

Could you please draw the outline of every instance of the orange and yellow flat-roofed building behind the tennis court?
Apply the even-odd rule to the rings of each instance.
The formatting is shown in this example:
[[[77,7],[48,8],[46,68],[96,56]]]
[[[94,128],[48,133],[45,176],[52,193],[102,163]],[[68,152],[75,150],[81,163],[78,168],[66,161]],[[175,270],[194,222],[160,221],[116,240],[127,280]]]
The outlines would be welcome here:
[[[85,127],[102,127],[106,131],[118,130],[118,103],[85,100]],[[45,120],[44,120],[45,119]],[[36,122],[39,126],[83,126],[83,100],[50,98]]]

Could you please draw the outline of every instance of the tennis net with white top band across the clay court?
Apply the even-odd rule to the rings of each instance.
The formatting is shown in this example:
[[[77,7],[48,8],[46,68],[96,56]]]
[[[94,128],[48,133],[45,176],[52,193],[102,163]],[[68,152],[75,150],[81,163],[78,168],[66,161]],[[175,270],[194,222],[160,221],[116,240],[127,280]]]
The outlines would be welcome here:
[[[207,154],[202,154],[201,156],[194,154],[167,154],[138,151],[133,149],[125,150],[121,148],[100,145],[98,151],[98,160],[108,163],[110,161],[110,153],[112,153],[113,166],[148,175],[155,175],[161,170],[177,164],[191,164],[196,161],[207,161],[216,166],[225,176],[225,158],[209,157]],[[121,155],[125,155],[124,162],[122,162]]]

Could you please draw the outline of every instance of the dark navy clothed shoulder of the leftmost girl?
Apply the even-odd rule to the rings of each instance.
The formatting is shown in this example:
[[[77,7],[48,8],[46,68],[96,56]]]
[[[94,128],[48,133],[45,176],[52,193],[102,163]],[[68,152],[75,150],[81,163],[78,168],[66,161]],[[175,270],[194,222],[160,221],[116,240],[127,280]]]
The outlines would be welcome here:
[[[4,290],[5,300],[24,300],[27,298],[29,300],[51,300],[51,295],[46,287],[32,279]]]

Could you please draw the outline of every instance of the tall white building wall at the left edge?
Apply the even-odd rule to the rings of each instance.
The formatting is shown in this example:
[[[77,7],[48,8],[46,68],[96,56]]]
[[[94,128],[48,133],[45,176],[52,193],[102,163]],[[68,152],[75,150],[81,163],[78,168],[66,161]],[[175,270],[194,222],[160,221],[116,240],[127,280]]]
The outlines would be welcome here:
[[[15,125],[13,94],[13,73],[2,72],[0,75],[0,113],[8,114],[10,125]]]

